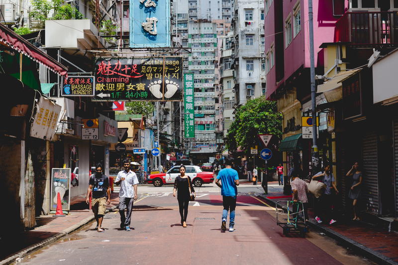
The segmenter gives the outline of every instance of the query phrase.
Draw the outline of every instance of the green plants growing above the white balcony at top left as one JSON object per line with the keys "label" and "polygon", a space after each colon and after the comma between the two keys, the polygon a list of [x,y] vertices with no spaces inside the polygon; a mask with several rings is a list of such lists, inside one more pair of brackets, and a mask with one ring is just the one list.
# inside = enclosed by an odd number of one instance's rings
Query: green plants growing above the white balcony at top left
{"label": "green plants growing above the white balcony at top left", "polygon": [[[51,10],[54,10],[54,16],[48,17]],[[69,3],[64,4],[63,0],[32,0],[32,9],[30,15],[33,19],[83,19],[83,14]]]}

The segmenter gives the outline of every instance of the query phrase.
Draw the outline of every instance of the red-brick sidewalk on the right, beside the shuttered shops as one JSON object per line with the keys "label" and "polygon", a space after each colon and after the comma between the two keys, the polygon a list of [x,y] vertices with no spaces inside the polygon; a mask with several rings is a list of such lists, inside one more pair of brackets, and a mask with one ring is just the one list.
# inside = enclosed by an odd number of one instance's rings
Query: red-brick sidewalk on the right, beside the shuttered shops
{"label": "red-brick sidewalk on the right, beside the shuttered shops", "polygon": [[[272,194],[258,194],[267,203],[275,206],[279,200],[289,200],[291,196],[283,192]],[[346,247],[359,251],[366,258],[378,264],[398,264],[398,234],[388,232],[371,224],[361,221],[339,221],[333,225],[318,224],[314,220],[313,212],[308,210],[310,217],[308,225],[334,238]]]}

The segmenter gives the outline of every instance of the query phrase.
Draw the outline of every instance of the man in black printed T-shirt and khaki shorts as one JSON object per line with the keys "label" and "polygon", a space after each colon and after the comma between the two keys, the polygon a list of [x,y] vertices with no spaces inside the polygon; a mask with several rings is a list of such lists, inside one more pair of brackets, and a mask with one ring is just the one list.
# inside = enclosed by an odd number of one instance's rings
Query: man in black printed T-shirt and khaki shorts
{"label": "man in black printed T-shirt and khaki shorts", "polygon": [[96,174],[90,176],[89,188],[87,190],[86,202],[90,201],[90,193],[93,191],[91,200],[92,210],[97,221],[96,229],[103,232],[101,228],[103,216],[105,215],[106,204],[110,203],[109,178],[102,174],[101,164],[97,165]]}

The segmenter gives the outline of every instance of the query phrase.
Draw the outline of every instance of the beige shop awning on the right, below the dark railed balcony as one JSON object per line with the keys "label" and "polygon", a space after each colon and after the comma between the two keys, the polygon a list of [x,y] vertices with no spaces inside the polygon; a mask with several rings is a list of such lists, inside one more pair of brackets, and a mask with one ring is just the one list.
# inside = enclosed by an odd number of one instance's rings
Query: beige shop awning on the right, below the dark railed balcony
{"label": "beige shop awning on the right, below the dark railed balcony", "polygon": [[355,75],[362,69],[349,70],[346,72],[340,72],[331,80],[319,85],[317,87],[318,93],[323,93],[328,102],[338,101],[343,98],[342,83],[347,78]]}

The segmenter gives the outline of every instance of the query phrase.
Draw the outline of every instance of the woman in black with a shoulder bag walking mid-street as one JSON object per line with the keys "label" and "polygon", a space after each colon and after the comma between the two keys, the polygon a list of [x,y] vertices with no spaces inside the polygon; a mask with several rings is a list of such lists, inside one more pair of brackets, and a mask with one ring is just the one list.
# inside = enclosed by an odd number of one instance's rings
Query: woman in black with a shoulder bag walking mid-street
{"label": "woman in black with a shoulder bag walking mid-street", "polygon": [[176,192],[178,189],[178,205],[180,206],[180,215],[181,215],[181,224],[183,227],[187,227],[187,215],[188,215],[188,204],[190,202],[190,189],[188,183],[191,184],[192,193],[195,195],[195,189],[192,185],[191,177],[185,175],[185,166],[181,165],[180,167],[180,176],[176,177],[174,181],[174,192],[173,196],[176,196]]}

